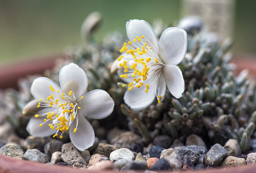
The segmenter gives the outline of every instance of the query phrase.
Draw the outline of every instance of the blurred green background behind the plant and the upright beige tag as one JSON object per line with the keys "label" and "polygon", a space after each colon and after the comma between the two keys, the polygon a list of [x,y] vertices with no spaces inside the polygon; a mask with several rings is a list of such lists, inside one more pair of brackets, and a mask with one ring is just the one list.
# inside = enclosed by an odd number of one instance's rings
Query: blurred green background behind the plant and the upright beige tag
{"label": "blurred green background behind the plant and the upright beige tag", "polygon": [[[62,53],[66,46],[82,43],[80,27],[93,11],[103,16],[94,34],[101,41],[109,31],[125,32],[130,19],[175,23],[181,18],[181,4],[180,0],[0,0],[0,63]],[[256,54],[255,7],[255,0],[236,1],[235,54]]]}

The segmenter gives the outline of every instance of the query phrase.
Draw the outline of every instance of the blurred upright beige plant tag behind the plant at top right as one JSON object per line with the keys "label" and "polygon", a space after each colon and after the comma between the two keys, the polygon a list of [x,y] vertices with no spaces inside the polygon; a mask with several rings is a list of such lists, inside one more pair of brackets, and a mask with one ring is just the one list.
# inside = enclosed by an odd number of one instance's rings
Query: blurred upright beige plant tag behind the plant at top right
{"label": "blurred upright beige plant tag behind the plant at top right", "polygon": [[207,29],[222,39],[233,36],[234,14],[234,0],[182,0],[182,17],[201,17]]}

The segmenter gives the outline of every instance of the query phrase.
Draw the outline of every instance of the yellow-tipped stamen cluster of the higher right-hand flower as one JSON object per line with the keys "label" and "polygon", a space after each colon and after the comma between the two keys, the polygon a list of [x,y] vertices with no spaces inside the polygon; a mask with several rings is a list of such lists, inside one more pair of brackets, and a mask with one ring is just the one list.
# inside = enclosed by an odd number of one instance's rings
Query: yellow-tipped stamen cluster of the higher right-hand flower
{"label": "yellow-tipped stamen cluster of the higher right-hand flower", "polygon": [[[127,76],[132,76],[133,81],[123,85],[123,87],[128,85],[130,87],[128,89],[129,91],[134,86],[140,88],[144,85],[147,88],[145,90],[147,93],[156,81],[158,81],[164,64],[157,55],[155,48],[147,47],[148,43],[151,44],[147,38],[144,38],[144,36],[141,36],[141,38],[137,36],[136,38],[137,40],[134,39],[133,43],[131,41],[128,42],[128,45],[124,43],[124,46],[119,50],[121,53],[126,51],[126,54],[131,54],[134,59],[130,60],[124,56],[118,58],[118,61],[121,61],[121,59],[124,60],[123,64],[120,63],[119,65],[124,67],[125,74],[120,75],[120,77],[126,79]],[[145,40],[145,42],[143,42],[142,39]],[[135,49],[130,45],[133,45]],[[129,62],[127,63],[127,61]],[[160,102],[160,100],[158,101]]]}

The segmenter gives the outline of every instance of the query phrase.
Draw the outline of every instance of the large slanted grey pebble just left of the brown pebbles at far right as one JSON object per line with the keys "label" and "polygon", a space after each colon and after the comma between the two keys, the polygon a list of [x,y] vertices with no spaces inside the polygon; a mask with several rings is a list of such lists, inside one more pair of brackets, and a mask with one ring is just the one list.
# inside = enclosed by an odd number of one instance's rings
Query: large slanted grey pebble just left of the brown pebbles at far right
{"label": "large slanted grey pebble just left of the brown pebbles at far right", "polygon": [[212,148],[204,155],[204,165],[216,167],[223,159],[228,156],[228,151],[220,144],[214,144]]}

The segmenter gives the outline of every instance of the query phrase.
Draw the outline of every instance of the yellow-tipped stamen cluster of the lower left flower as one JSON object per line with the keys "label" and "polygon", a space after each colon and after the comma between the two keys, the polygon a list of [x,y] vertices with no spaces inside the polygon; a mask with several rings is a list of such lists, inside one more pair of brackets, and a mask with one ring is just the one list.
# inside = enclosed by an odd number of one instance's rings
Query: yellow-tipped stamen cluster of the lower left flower
{"label": "yellow-tipped stamen cluster of the lower left flower", "polygon": [[[54,88],[50,85],[52,92],[55,92]],[[57,91],[59,93],[60,91]],[[52,107],[53,111],[43,114],[36,114],[35,117],[43,117],[46,116],[44,122],[39,126],[42,126],[44,123],[52,121],[52,123],[48,124],[52,130],[56,129],[57,132],[53,135],[58,136],[58,132],[61,131],[60,139],[63,137],[62,134],[69,129],[70,124],[74,121],[77,115],[77,110],[81,109],[78,106],[77,102],[82,100],[84,97],[81,97],[80,100],[76,101],[76,97],[73,91],[69,91],[68,93],[71,97],[67,96],[66,94],[62,93],[60,95],[61,99],[55,99],[53,94],[48,96],[46,101],[40,99],[37,105],[39,107]],[[44,102],[44,103],[41,103]],[[74,133],[77,130],[78,118],[76,118],[76,128],[74,128]]]}

